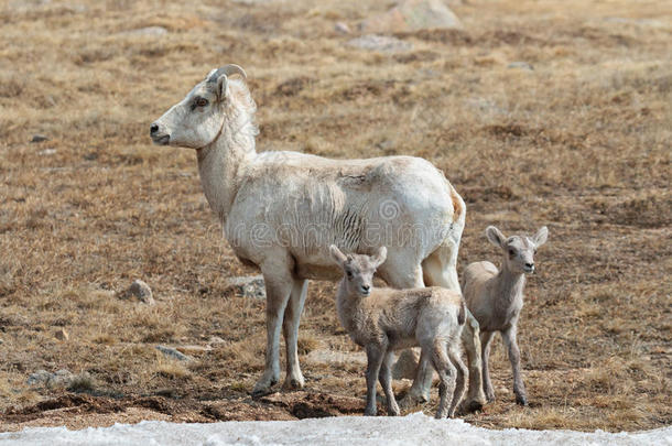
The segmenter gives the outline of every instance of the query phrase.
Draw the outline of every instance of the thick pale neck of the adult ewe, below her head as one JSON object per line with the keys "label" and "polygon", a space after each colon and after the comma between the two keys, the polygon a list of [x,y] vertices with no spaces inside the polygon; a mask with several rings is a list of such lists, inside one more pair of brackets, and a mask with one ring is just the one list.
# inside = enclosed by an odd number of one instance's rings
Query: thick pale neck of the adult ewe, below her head
{"label": "thick pale neck of the adult ewe, below her head", "polygon": [[243,124],[225,121],[219,137],[197,151],[203,192],[217,217],[225,222],[238,194],[245,167],[252,162],[254,135]]}

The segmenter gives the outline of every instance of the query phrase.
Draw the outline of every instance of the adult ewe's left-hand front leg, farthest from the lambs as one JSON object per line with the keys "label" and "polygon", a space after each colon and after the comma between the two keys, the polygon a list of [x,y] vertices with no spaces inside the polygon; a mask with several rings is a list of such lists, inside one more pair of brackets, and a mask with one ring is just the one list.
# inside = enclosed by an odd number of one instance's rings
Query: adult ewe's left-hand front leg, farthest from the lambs
{"label": "adult ewe's left-hand front leg, farthest from the lambs", "polygon": [[252,396],[261,396],[271,392],[271,388],[280,380],[280,330],[282,316],[290,293],[293,279],[289,270],[278,272],[279,268],[261,268],[265,282],[265,369],[252,390]]}

